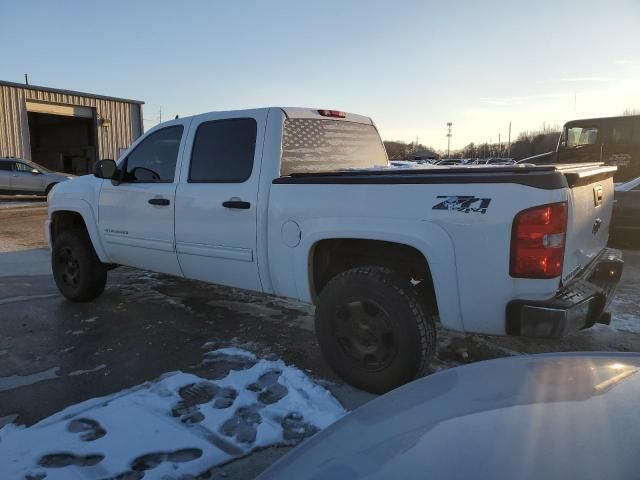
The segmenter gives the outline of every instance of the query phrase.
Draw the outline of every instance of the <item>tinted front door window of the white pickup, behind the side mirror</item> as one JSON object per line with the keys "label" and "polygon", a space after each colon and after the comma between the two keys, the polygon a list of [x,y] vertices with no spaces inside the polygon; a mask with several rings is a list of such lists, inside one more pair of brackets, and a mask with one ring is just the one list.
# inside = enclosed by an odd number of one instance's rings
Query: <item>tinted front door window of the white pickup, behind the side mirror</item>
{"label": "tinted front door window of the white pickup, behind the side mirror", "polygon": [[182,125],[158,130],[129,154],[124,182],[171,183],[175,177]]}

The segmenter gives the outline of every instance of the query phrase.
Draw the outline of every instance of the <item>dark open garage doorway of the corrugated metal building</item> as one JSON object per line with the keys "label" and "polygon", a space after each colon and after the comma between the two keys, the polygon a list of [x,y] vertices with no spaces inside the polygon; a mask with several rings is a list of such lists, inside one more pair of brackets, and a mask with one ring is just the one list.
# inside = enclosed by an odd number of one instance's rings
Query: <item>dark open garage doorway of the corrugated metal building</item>
{"label": "dark open garage doorway of the corrugated metal building", "polygon": [[31,160],[58,172],[84,175],[96,159],[93,118],[28,112]]}

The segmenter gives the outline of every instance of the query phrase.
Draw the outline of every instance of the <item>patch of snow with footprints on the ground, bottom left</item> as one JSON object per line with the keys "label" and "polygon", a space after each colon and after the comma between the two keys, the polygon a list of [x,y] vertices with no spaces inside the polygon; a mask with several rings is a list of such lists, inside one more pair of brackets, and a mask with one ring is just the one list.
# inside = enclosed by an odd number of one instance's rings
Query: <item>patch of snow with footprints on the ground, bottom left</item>
{"label": "patch of snow with footprints on the ground, bottom left", "polygon": [[256,448],[295,444],[346,413],[281,360],[258,360],[237,348],[206,358],[239,367],[219,380],[168,373],[28,428],[6,425],[0,478],[179,479]]}

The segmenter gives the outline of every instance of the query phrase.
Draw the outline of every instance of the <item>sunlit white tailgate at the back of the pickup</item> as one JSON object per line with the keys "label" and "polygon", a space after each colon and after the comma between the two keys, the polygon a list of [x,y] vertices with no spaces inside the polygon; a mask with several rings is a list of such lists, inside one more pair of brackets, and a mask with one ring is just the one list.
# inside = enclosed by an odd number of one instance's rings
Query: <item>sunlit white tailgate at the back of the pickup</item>
{"label": "sunlit white tailgate at the back of the pickup", "polygon": [[562,281],[567,283],[606,247],[616,167],[557,165],[569,185],[569,216]]}

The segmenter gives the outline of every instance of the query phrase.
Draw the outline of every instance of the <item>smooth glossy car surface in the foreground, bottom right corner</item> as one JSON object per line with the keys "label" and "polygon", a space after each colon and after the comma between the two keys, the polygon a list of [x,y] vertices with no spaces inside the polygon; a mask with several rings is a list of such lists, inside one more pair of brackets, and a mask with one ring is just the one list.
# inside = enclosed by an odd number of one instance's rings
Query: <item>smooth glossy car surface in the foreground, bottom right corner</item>
{"label": "smooth glossy car surface in the foreground, bottom right corner", "polygon": [[638,478],[640,355],[507,357],[421,378],[258,480]]}

